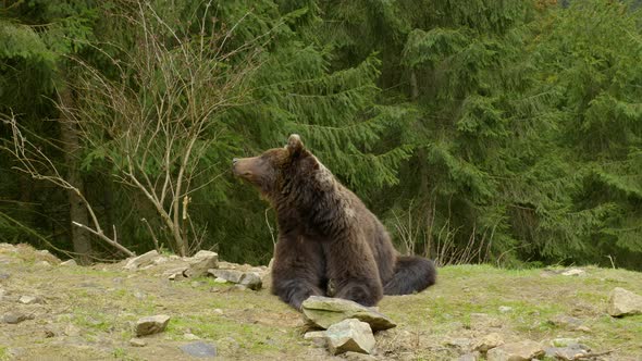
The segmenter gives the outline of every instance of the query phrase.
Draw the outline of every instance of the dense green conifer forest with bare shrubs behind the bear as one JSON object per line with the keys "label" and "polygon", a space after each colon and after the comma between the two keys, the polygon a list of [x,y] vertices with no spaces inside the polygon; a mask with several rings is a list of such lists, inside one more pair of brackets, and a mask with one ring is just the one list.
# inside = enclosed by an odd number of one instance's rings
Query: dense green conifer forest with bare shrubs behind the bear
{"label": "dense green conifer forest with bare shrubs behind the bear", "polygon": [[266,264],[298,133],[403,252],[642,270],[641,3],[2,0],[0,241]]}

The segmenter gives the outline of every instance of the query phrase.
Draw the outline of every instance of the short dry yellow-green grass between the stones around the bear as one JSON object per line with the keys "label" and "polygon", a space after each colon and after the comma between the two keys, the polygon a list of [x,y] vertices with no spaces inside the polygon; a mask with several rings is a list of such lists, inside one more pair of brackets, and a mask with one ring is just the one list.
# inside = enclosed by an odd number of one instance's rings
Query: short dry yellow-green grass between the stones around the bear
{"label": "short dry yellow-green grass between the stones around the bear", "polygon": [[[0,249],[2,272],[10,274],[0,281],[9,291],[0,301],[0,314],[20,310],[35,315],[0,327],[0,360],[10,354],[17,360],[184,360],[178,346],[188,343],[186,333],[221,345],[223,359],[333,359],[303,339],[300,315],[267,290],[232,290],[207,278],[171,283],[153,270],[127,273],[119,264],[38,265],[42,257],[29,248],[18,253]],[[376,358],[449,360],[461,353],[449,344],[495,332],[506,341],[578,338],[595,352],[612,351],[604,360],[639,360],[642,315],[612,319],[604,310],[616,286],[642,294],[642,277],[624,270],[583,270],[584,276],[568,277],[545,270],[442,267],[439,283],[429,290],[382,300],[381,312],[398,326],[378,333]],[[15,301],[34,294],[44,303]],[[499,306],[511,311],[502,313]],[[169,328],[146,338],[146,347],[129,346],[131,324],[158,313],[172,316]],[[589,331],[551,323],[557,315],[577,318]],[[226,337],[236,346],[223,347]]]}

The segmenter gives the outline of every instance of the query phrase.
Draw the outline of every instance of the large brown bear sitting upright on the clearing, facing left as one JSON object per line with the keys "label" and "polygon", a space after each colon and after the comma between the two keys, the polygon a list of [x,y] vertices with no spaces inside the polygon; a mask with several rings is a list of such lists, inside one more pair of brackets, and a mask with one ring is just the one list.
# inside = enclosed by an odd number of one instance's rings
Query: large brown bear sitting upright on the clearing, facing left
{"label": "large brown bear sitting upright on the clearing, facing left", "polygon": [[295,309],[313,295],[374,306],[384,294],[411,294],[435,283],[433,262],[399,256],[376,216],[298,135],[284,148],[234,159],[233,171],[276,211],[272,292]]}

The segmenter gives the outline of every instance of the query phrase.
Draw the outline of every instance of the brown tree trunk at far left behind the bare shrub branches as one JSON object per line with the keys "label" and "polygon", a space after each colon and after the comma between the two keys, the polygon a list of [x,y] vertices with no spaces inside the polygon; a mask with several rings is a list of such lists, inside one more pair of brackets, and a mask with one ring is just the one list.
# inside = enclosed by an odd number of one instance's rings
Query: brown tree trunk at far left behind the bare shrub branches
{"label": "brown tree trunk at far left behind the bare shrub branches", "polygon": [[[72,90],[69,87],[60,90],[60,102],[63,109],[60,112],[60,140],[64,151],[64,162],[67,170],[66,180],[74,187],[83,190],[84,182],[78,166],[79,142],[78,129],[76,123],[70,120],[64,109],[71,109],[74,104]],[[73,191],[67,191],[67,199],[70,204],[70,222],[77,222],[84,225],[89,224],[89,216],[87,208],[83,200]],[[70,223],[72,241],[74,244],[74,252],[77,253],[77,261],[81,264],[90,263],[91,239],[90,235],[79,227]]]}

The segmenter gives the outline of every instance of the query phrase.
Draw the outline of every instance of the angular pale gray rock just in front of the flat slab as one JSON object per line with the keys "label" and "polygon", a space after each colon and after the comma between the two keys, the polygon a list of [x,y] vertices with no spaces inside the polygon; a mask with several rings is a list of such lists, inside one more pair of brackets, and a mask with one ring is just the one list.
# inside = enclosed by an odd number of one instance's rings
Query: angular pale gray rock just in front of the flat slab
{"label": "angular pale gray rock just in front of the flat slab", "polygon": [[347,351],[371,353],[375,345],[370,325],[357,319],[331,325],[325,331],[325,339],[333,354]]}

